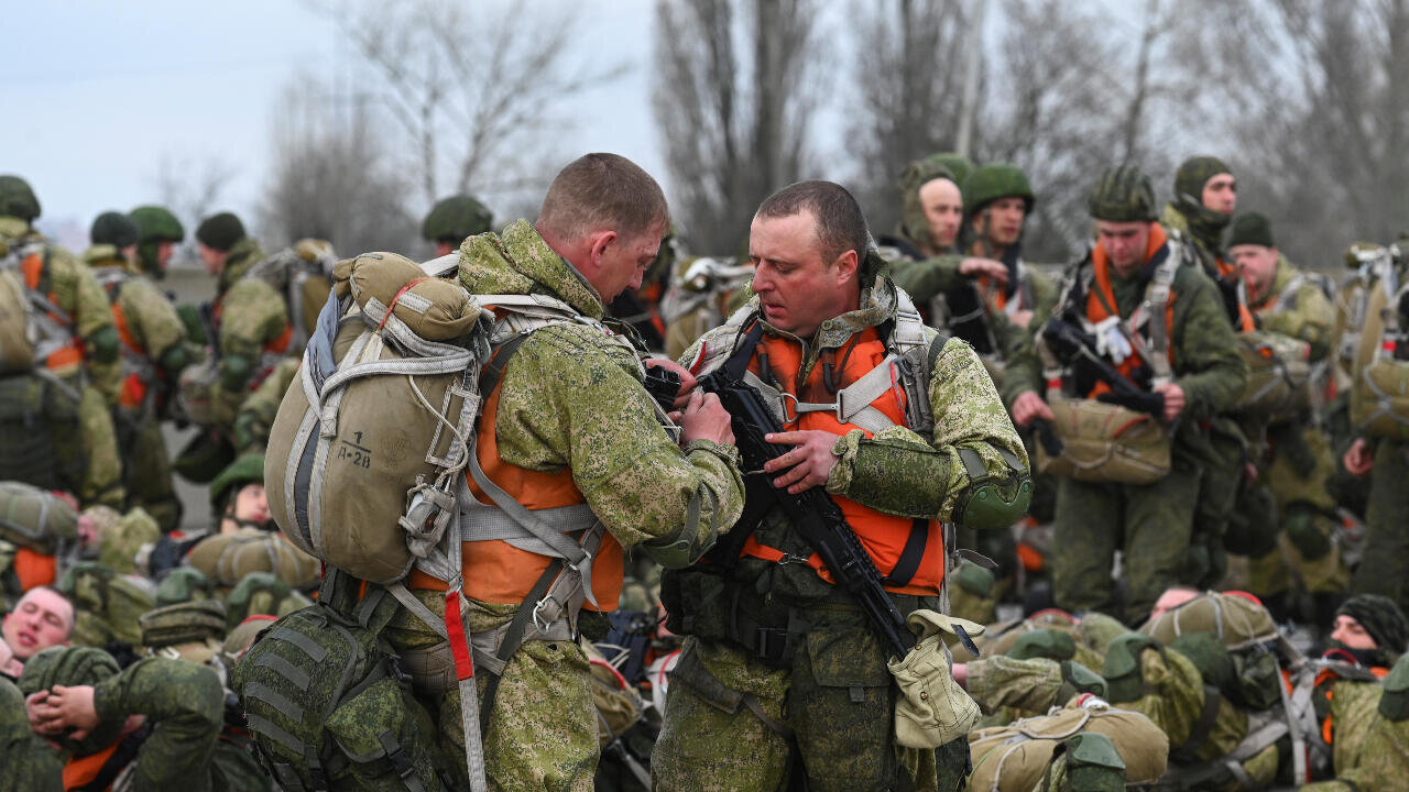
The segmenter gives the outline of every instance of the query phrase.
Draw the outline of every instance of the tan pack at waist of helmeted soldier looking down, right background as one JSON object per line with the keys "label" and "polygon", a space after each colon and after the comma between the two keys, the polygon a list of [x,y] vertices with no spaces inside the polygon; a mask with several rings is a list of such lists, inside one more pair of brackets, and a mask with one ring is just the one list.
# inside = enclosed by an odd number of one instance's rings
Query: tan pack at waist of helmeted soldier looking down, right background
{"label": "tan pack at waist of helmeted soldier looking down, right background", "polygon": [[1150,416],[1093,399],[1051,402],[1062,452],[1038,444],[1037,471],[1084,482],[1146,485],[1169,474],[1169,430]]}

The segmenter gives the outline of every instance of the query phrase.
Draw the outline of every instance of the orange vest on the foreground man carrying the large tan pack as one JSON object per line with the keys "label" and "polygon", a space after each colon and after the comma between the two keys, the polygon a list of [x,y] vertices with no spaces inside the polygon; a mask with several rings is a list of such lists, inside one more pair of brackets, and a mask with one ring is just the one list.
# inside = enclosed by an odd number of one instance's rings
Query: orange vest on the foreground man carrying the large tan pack
{"label": "orange vest on the foreground man carrying the large tan pack", "polygon": [[[499,458],[499,440],[495,435],[495,416],[499,413],[499,396],[503,380],[495,386],[485,400],[476,428],[476,455],[489,481],[499,485],[524,509],[557,509],[576,506],[586,499],[572,481],[572,471],[540,472],[510,465]],[[483,490],[465,474],[469,489],[480,503],[493,503]],[[464,558],[465,595],[479,602],[517,603],[533,590],[552,559],[547,555],[520,550],[507,541],[466,541],[461,545]],[[623,576],[621,545],[610,531],[602,537],[602,547],[592,559],[592,593],[603,613],[616,610],[621,598]],[[445,582],[413,569],[407,576],[407,588],[445,590]],[[597,610],[592,602],[583,603],[589,610]]]}

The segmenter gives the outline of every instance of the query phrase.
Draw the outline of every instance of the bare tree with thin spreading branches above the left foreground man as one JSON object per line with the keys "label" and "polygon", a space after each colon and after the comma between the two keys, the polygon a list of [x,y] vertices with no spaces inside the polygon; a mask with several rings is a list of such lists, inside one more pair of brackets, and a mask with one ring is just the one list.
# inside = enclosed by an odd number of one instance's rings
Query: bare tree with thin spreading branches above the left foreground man
{"label": "bare tree with thin spreading branches above the left foreground man", "polygon": [[620,65],[569,63],[581,24],[568,6],[309,1],[376,73],[411,144],[407,166],[427,207],[451,192],[511,193],[545,180],[545,138],[569,125],[555,116],[564,97],[624,73]]}

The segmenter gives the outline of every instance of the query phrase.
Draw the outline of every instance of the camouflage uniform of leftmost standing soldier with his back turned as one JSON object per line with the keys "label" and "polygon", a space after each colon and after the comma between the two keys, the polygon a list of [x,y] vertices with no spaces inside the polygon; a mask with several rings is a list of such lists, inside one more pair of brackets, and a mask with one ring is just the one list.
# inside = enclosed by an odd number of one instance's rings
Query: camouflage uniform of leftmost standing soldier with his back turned
{"label": "camouflage uniform of leftmost standing soldier with his back turned", "polygon": [[[37,211],[35,211],[37,214]],[[93,273],[73,254],[32,231],[28,218],[0,214],[0,248],[41,242],[46,248],[51,295],[59,310],[73,317],[73,334],[86,347],[82,365],[52,373],[79,393],[79,437],[55,437],[59,452],[82,452],[85,475],[70,488],[85,505],[121,507],[125,500],[123,464],[104,393],[117,393],[120,371],[118,337],[107,296]]]}

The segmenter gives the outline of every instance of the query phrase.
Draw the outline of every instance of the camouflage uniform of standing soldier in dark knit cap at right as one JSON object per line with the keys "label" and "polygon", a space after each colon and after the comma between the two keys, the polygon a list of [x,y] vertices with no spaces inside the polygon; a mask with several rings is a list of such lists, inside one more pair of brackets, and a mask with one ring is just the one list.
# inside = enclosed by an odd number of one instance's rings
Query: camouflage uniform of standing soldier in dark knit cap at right
{"label": "camouflage uniform of standing soldier in dark knit cap at right", "polygon": [[[1262,330],[1279,333],[1310,344],[1310,362],[1322,364],[1330,352],[1334,307],[1320,287],[1302,278],[1301,287],[1285,295],[1299,276],[1285,256],[1265,295],[1250,303]],[[1267,599],[1286,590],[1288,562],[1302,585],[1313,595],[1334,595],[1350,583],[1350,572],[1334,543],[1336,502],[1329,483],[1336,472],[1330,441],[1320,427],[1301,419],[1277,421],[1265,427],[1267,451],[1258,462],[1258,482],[1250,489],[1265,488],[1277,505],[1281,521],[1281,548],[1248,559],[1250,590]],[[1247,524],[1267,521],[1261,509],[1247,509],[1239,500],[1240,519]],[[1285,558],[1285,559],[1284,559]],[[1323,596],[1326,599],[1326,596]],[[1316,623],[1329,623],[1329,607],[1317,613]]]}

